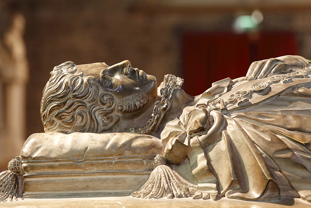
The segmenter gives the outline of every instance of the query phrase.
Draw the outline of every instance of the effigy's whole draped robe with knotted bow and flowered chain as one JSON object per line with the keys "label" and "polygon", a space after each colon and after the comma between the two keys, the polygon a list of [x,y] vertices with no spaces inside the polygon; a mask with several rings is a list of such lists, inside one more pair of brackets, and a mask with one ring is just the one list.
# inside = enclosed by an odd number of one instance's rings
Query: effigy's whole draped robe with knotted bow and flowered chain
{"label": "effigy's whole draped robe with knotted bow and flowered chain", "polygon": [[311,78],[288,77],[214,83],[165,126],[165,158],[190,166],[212,198],[310,201]]}

